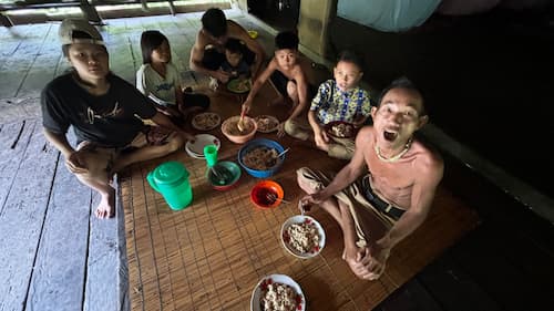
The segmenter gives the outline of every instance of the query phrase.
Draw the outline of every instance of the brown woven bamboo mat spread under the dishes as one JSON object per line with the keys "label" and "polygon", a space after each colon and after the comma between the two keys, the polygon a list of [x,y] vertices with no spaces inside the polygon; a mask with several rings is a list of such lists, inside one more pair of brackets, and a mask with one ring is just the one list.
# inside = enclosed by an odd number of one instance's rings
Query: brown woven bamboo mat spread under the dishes
{"label": "brown woven bamboo mat spread under the dishes", "polygon": [[[213,110],[224,118],[237,106],[233,97],[213,100]],[[274,115],[279,117],[279,112]],[[222,139],[220,158],[236,162],[240,146],[229,143],[219,129],[212,134]],[[260,136],[276,139],[271,134]],[[284,187],[288,200],[304,195],[296,184],[298,167],[337,170],[345,165],[301,142],[279,142],[291,149],[271,179]],[[194,199],[184,210],[171,210],[145,179],[165,160],[179,160],[191,173]],[[249,191],[257,179],[243,170],[236,188],[215,191],[205,172],[204,160],[177,152],[134,165],[122,178],[132,310],[249,310],[255,284],[270,273],[295,279],[306,296],[307,310],[370,310],[478,221],[472,209],[440,188],[428,220],[393,249],[383,277],[361,281],[340,259],[342,235],[327,214],[312,212],[327,235],[321,255],[296,259],[279,239],[283,222],[297,214],[296,205],[256,209]]]}

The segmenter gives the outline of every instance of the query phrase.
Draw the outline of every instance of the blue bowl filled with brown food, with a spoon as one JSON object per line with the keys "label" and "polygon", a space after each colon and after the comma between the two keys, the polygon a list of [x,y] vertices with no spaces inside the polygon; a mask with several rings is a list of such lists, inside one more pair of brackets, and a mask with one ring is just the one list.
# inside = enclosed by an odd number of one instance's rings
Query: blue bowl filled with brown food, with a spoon
{"label": "blue bowl filled with brown food, with a spoon", "polygon": [[278,155],[284,151],[275,141],[253,139],[238,151],[238,164],[253,177],[269,178],[281,167],[286,154]]}

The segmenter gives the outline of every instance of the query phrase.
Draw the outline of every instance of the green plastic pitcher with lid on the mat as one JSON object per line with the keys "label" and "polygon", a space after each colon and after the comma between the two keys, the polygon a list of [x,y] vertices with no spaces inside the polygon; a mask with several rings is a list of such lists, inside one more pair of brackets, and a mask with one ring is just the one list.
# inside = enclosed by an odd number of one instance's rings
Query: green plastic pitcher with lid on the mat
{"label": "green plastic pitcher with lid on the mat", "polygon": [[193,200],[188,170],[179,162],[166,162],[146,175],[150,186],[160,193],[171,209],[181,210]]}

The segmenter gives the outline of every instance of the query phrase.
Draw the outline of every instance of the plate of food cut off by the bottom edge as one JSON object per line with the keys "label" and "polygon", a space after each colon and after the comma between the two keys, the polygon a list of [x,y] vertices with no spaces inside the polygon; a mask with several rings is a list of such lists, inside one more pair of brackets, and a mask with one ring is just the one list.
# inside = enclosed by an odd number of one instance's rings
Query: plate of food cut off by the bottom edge
{"label": "plate of food cut off by the bottom edge", "polygon": [[300,286],[289,276],[269,274],[252,292],[250,311],[306,311],[306,298]]}

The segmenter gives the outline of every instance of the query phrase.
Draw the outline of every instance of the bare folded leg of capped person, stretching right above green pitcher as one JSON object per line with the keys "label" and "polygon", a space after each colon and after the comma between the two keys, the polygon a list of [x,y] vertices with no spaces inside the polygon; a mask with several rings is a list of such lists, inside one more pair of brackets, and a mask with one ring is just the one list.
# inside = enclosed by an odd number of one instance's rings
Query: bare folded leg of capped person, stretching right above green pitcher
{"label": "bare folded leg of capped person, stretching right above green pitcher", "polygon": [[167,138],[167,143],[160,146],[144,146],[133,151],[129,154],[121,155],[113,164],[112,172],[116,173],[133,163],[158,158],[176,152],[184,144],[184,139],[177,134],[173,133]]}

